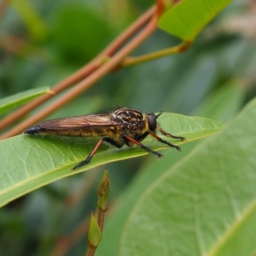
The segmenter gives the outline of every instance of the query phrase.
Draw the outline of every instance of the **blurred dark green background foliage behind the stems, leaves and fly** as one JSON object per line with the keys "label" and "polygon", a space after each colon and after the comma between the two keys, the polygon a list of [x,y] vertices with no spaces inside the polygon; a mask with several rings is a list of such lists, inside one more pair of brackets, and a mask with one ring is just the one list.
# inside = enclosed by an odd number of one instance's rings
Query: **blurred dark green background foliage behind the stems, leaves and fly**
{"label": "blurred dark green background foliage behind the stems, leaves and fly", "polygon": [[[10,1],[0,24],[0,97],[61,81],[152,4],[145,0]],[[202,115],[226,123],[256,93],[255,17],[255,1],[236,0],[200,33],[189,51],[108,74],[49,118],[127,106],[143,112]],[[178,43],[159,30],[134,55]],[[221,108],[223,102],[230,102],[232,108],[225,104]],[[100,166],[6,205],[0,210],[0,255],[58,255],[52,250],[56,244],[68,247],[63,237],[70,234],[80,238],[74,238],[76,243],[65,255],[84,255],[86,216],[96,208],[104,170],[109,170],[112,203],[140,169],[155,161],[145,156]],[[81,230],[74,232],[77,227]]]}

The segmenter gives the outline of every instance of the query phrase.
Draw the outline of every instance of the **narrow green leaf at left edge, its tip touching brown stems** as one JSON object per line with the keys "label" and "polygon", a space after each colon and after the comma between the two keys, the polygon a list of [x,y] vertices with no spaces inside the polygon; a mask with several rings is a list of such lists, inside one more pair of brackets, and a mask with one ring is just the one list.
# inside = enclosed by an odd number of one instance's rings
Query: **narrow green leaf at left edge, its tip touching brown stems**
{"label": "narrow green leaf at left edge, its tip touching brown stems", "polygon": [[49,90],[49,87],[41,87],[5,97],[0,100],[0,114],[13,108],[17,108],[18,106],[25,104],[29,100],[34,99],[35,97],[38,97],[45,93],[53,92]]}

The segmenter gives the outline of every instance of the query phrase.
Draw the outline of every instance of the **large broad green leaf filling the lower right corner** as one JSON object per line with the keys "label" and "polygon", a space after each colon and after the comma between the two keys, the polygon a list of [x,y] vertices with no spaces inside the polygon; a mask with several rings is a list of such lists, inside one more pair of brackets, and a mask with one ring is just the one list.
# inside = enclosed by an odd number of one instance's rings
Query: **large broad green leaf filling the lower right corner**
{"label": "large broad green leaf filling the lower right corner", "polygon": [[253,100],[148,187],[125,223],[120,255],[255,253],[255,117]]}

